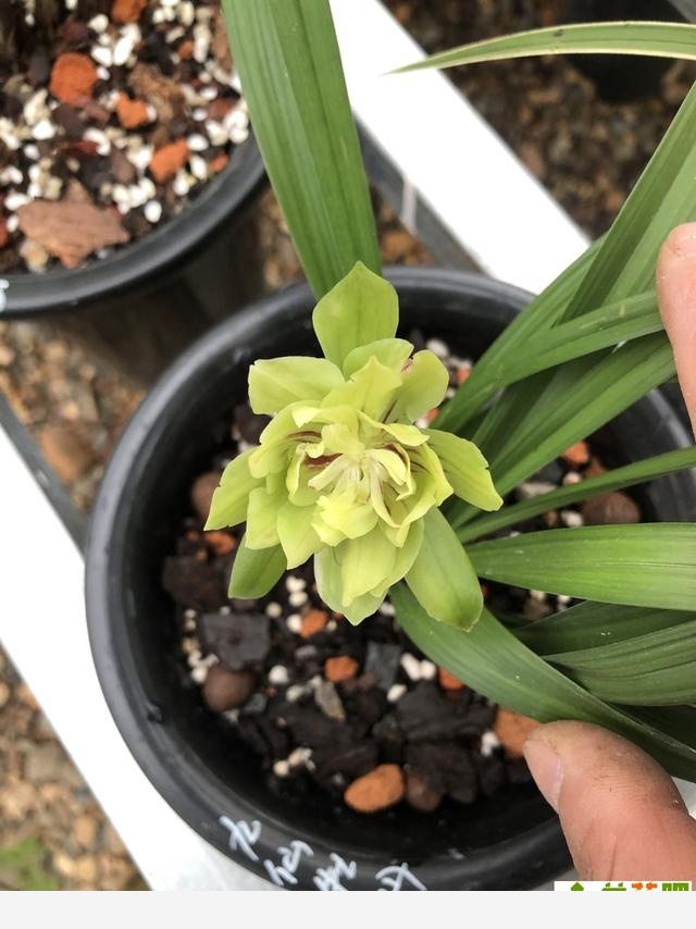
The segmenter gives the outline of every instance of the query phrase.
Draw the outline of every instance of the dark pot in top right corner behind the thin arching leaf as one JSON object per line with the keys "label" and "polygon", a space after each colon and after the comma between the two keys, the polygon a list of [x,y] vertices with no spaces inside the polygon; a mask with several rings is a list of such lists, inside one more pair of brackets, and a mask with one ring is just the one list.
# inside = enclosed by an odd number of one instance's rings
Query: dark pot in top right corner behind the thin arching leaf
{"label": "dark pot in top right corner behind the thin arching leaf", "polygon": [[[621,20],[683,22],[691,0],[562,0],[562,22],[595,23]],[[692,7],[692,14],[696,7]],[[639,100],[657,94],[660,78],[673,62],[666,58],[621,54],[574,54],[571,62],[594,80],[610,102]]]}

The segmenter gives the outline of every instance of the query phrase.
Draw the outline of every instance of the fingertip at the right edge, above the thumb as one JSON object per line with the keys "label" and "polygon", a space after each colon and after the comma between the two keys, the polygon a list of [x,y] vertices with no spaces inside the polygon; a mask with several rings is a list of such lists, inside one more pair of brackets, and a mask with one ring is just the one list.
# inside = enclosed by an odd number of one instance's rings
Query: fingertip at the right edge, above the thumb
{"label": "fingertip at the right edge, above the thumb", "polygon": [[657,298],[696,432],[696,223],[669,234],[657,262]]}

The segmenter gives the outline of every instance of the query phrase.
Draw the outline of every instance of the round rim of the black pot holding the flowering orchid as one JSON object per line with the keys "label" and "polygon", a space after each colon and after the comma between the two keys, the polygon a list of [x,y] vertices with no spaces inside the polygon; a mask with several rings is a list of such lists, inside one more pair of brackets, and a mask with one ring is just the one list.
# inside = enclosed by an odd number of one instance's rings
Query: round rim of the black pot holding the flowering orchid
{"label": "round rim of the black pot holding the flowering orchid", "polygon": [[[425,292],[434,299],[437,299],[438,292],[451,297],[453,290],[459,290],[462,294],[465,292],[468,296],[505,300],[517,309],[529,301],[529,295],[515,287],[498,284],[468,272],[397,269],[390,271],[387,276],[397,288],[406,287],[411,294],[419,290]],[[124,686],[124,668],[133,664],[132,657],[124,656],[123,651],[119,649],[113,623],[104,621],[114,582],[114,578],[109,574],[110,547],[114,529],[121,519],[123,500],[126,496],[134,496],[133,491],[139,482],[140,471],[157,442],[151,435],[152,424],[166,414],[167,408],[177,396],[182,396],[191,386],[195,387],[195,383],[191,384],[191,382],[196,380],[196,372],[202,376],[201,369],[214,364],[214,359],[220,355],[233,351],[236,364],[251,361],[249,354],[244,349],[246,340],[252,338],[254,333],[262,331],[271,321],[277,320],[278,315],[291,308],[297,308],[302,302],[309,306],[313,302],[310,288],[306,284],[294,285],[251,305],[204,335],[165,372],[136,412],[119,443],[104,475],[89,531],[86,559],[89,639],[97,672],[112,715],[138,764],[165,801],[199,834],[204,835],[211,844],[227,854],[229,854],[229,847],[219,827],[217,816],[212,813],[221,808],[216,793],[219,779],[192,750],[186,751],[186,746],[181,744],[184,742],[182,738],[173,736],[167,727],[157,724],[159,708],[144,706],[147,695],[139,685],[139,680],[130,680],[129,688]],[[235,345],[236,348],[233,347]],[[660,416],[664,417],[666,428],[670,430],[674,442],[686,442],[686,433],[668,404],[657,394],[651,396],[651,400],[657,404]],[[132,504],[126,505],[132,506]],[[133,671],[132,668],[126,670]],[[136,693],[138,688],[140,692]],[[144,731],[145,719],[153,723],[147,731]],[[186,770],[189,776],[188,781],[181,773],[182,770]],[[190,777],[196,778],[195,798],[191,795]],[[256,845],[259,853],[258,862],[245,859],[238,851],[232,857],[268,878],[262,859],[278,846],[287,844],[288,828],[279,817],[261,808],[256,801],[239,793],[235,793],[234,800],[236,808],[228,815],[235,820],[245,819],[248,822],[254,819],[261,820],[263,835]],[[211,810],[210,816],[203,821],[201,821],[202,806]],[[322,847],[319,849],[318,854],[324,854],[327,851]],[[345,850],[338,851],[345,853]],[[374,874],[376,863],[373,858],[364,852],[356,852],[355,857],[361,863],[363,871],[372,868]],[[568,865],[568,852],[560,826],[550,812],[548,820],[539,822],[512,839],[477,850],[465,860],[434,856],[422,865],[414,863],[418,876],[432,889],[451,889],[455,881],[467,888],[499,887],[490,881],[492,867],[498,879],[501,875],[508,878],[507,889],[530,887],[547,879],[554,867],[556,874],[559,874]],[[373,883],[361,884],[356,881],[352,885],[356,889],[374,889]],[[500,889],[504,888],[500,887]]]}

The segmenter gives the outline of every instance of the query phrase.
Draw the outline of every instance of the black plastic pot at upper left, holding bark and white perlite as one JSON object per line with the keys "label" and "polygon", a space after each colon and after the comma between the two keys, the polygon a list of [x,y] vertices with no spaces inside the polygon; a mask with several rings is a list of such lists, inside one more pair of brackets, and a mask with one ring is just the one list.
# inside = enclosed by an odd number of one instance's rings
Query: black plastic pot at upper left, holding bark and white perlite
{"label": "black plastic pot at upper left, holding bark and white perlite", "polygon": [[261,265],[251,260],[256,230],[245,219],[264,184],[250,136],[188,208],[144,238],[74,271],[7,276],[2,318],[51,322],[151,383],[195,338],[261,293]]}

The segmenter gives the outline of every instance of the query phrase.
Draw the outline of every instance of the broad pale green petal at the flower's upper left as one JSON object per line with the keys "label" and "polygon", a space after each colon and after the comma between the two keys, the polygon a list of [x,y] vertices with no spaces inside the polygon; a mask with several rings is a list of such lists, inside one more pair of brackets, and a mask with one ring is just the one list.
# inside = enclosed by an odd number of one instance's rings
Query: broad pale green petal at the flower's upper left
{"label": "broad pale green petal at the flower's upper left", "polygon": [[272,358],[249,369],[249,402],[254,413],[273,416],[300,400],[321,402],[343,383],[338,368],[325,358]]}

